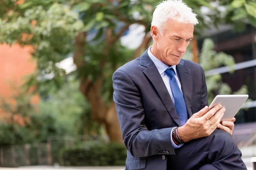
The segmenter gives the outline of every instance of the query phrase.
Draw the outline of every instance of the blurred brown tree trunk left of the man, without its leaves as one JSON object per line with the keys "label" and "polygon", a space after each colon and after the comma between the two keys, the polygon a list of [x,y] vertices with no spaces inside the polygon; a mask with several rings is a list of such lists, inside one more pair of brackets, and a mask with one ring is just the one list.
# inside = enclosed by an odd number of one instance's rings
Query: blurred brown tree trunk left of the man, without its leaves
{"label": "blurred brown tree trunk left of the man, without its leaves", "polygon": [[[77,68],[84,66],[86,53],[86,33],[79,33],[75,38],[74,63]],[[115,103],[108,106],[102,99],[102,77],[92,81],[88,77],[81,77],[80,91],[90,102],[92,117],[106,128],[106,132],[111,142],[122,143],[122,133],[116,114]]]}

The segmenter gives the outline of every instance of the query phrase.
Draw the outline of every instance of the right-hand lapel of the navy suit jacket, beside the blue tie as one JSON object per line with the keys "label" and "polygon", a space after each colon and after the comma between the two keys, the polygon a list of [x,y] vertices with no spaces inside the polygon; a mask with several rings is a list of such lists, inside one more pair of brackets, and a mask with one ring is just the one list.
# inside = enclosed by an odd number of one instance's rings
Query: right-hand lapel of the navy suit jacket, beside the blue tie
{"label": "right-hand lapel of the navy suit jacket, beside the blue tie", "polygon": [[188,112],[188,117],[192,116],[191,112],[191,102],[192,102],[192,77],[190,69],[185,67],[184,60],[180,60],[180,64],[177,65],[177,71],[180,77],[181,89],[183,92],[183,97],[186,103],[186,109]]}

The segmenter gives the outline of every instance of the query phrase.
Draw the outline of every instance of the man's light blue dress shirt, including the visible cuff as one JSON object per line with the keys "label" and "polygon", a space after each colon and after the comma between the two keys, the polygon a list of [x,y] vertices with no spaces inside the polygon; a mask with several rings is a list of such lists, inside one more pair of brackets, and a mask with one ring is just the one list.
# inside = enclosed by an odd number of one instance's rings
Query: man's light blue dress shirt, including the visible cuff
{"label": "man's light blue dress shirt, including the visible cuff", "polygon": [[[176,65],[172,65],[171,67],[169,67],[168,65],[164,64],[163,62],[161,62],[159,59],[157,59],[156,57],[154,57],[154,55],[151,53],[150,51],[151,49],[151,46],[148,48],[148,56],[151,58],[151,60],[154,62],[154,65],[157,67],[157,70],[160,74],[160,76],[162,77],[163,79],[163,82],[164,84],[166,85],[166,88],[172,98],[172,102],[174,102],[174,99],[173,99],[173,96],[172,96],[172,89],[171,89],[171,86],[170,86],[170,77],[164,72],[166,71],[167,68],[173,68],[174,71],[175,71],[175,79],[176,79],[176,82],[180,88],[180,91],[182,93],[182,90],[181,90],[181,84],[180,84],[180,80],[179,78],[177,77],[177,71],[176,71]],[[183,94],[183,93],[182,93]],[[173,130],[173,129],[172,129]],[[171,132],[171,140],[172,140],[172,132]],[[172,140],[172,146],[174,148],[178,148],[178,147],[181,147],[183,144],[178,144],[176,145],[173,140]]]}

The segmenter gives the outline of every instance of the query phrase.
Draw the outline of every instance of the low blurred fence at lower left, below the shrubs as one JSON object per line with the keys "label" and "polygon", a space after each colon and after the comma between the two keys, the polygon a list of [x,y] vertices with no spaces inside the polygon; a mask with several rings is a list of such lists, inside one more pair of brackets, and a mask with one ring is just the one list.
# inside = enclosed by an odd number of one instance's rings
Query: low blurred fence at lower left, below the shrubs
{"label": "low blurred fence at lower left, below the shrubs", "polygon": [[106,141],[99,136],[51,136],[47,143],[13,145],[0,148],[0,167],[53,165],[60,163],[60,151],[85,141]]}

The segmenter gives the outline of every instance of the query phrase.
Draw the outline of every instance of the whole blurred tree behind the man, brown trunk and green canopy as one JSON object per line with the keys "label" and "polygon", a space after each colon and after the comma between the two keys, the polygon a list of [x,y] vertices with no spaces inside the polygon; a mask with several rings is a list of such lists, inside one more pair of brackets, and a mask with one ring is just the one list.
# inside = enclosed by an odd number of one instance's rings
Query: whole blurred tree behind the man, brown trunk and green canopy
{"label": "whole blurred tree behind the man, brown trunk and green canopy", "polygon": [[[221,22],[250,22],[256,16],[253,0],[184,0],[198,14],[200,24],[195,29],[199,35],[209,25]],[[240,2],[243,1],[244,3]],[[28,80],[29,85],[39,86],[63,82],[64,70],[55,63],[73,54],[80,80],[80,91],[90,102],[92,117],[105,126],[111,141],[122,142],[115,104],[112,99],[113,72],[125,62],[139,57],[151,42],[148,34],[151,16],[158,0],[4,0],[0,4],[0,42],[19,43],[33,47],[32,56],[38,61],[38,72]],[[231,5],[230,5],[231,3]],[[218,5],[230,9],[241,3],[245,17],[235,17],[238,10],[223,13]],[[217,6],[216,6],[217,4]],[[235,5],[234,5],[235,4]],[[203,14],[201,7],[209,9]],[[231,7],[230,7],[231,6]],[[250,11],[250,12],[249,12]],[[256,11],[256,10],[254,10]],[[244,11],[242,11],[244,12]],[[230,20],[234,17],[236,22]],[[135,50],[128,50],[120,37],[132,24],[145,27],[144,38]],[[74,41],[73,41],[74,40]],[[195,45],[196,48],[196,45]],[[36,81],[36,77],[52,74],[51,81]]]}

